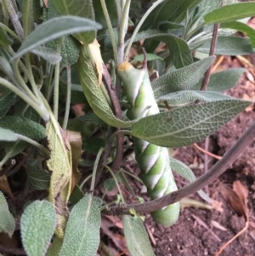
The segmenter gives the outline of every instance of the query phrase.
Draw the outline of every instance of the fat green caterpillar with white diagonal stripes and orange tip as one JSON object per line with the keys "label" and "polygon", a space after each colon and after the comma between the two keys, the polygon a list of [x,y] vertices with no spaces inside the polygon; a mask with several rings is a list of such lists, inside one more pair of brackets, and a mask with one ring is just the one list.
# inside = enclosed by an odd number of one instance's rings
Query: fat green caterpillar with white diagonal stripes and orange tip
{"label": "fat green caterpillar with white diagonal stripes and orange tip", "polygon": [[[150,85],[150,77],[146,67],[135,69],[128,62],[123,62],[117,68],[117,74],[122,79],[130,108],[127,117],[130,120],[147,117],[159,113],[156,100]],[[135,159],[139,164],[139,177],[144,181],[151,199],[156,199],[176,191],[177,186],[169,164],[167,148],[150,144],[143,139],[133,137]],[[151,213],[156,223],[173,225],[178,219],[179,203],[175,202],[166,208]]]}

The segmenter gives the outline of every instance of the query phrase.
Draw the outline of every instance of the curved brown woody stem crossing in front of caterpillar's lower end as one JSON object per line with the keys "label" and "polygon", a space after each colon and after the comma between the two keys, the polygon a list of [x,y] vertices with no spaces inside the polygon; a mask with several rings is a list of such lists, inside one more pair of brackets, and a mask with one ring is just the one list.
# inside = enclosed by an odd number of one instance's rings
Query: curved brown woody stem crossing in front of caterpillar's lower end
{"label": "curved brown woody stem crossing in front of caterpillar's lower end", "polygon": [[[140,214],[149,213],[156,211],[158,209],[164,208],[173,202],[178,202],[186,196],[190,196],[195,192],[201,190],[206,185],[210,184],[214,179],[218,178],[221,174],[224,173],[226,168],[229,168],[237,159],[247,145],[250,145],[255,137],[255,121],[252,122],[249,128],[246,129],[246,132],[241,135],[241,137],[235,142],[229,151],[227,151],[223,158],[219,160],[208,172],[203,174],[200,178],[196,179],[190,185],[184,186],[184,188],[173,191],[167,196],[162,196],[156,200],[150,202],[144,202],[143,204],[129,204],[124,207],[113,207],[109,210],[105,210],[105,214],[129,214],[129,209],[134,208],[134,210]],[[119,211],[119,212],[118,212]]]}

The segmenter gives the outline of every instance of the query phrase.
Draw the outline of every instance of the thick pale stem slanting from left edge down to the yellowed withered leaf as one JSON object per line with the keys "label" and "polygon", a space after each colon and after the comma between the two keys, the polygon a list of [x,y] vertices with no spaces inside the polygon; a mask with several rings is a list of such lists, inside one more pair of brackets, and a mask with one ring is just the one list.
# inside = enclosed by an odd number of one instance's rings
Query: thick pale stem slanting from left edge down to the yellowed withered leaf
{"label": "thick pale stem slanting from left edge down to the yellowed withered leaf", "polygon": [[35,111],[37,111],[39,116],[42,117],[42,119],[45,122],[48,122],[48,112],[46,110],[44,111],[40,107],[40,105],[37,104],[37,102],[34,102],[33,100],[31,100],[31,98],[29,96],[24,94],[19,88],[15,87],[14,84],[12,84],[11,82],[8,82],[7,80],[3,79],[2,77],[0,77],[0,84],[2,84],[5,88],[8,88],[10,91],[14,92],[14,94],[17,94],[22,100],[26,101],[26,103],[28,105],[31,105],[31,107]]}

